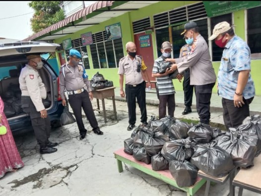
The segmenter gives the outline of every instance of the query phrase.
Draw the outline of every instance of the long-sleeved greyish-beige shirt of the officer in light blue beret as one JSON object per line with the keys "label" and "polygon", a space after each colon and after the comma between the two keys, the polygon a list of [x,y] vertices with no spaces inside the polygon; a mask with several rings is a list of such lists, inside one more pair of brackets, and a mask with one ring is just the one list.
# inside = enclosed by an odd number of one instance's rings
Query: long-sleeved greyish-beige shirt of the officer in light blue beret
{"label": "long-sleeved greyish-beige shirt of the officer in light blue beret", "polygon": [[[63,73],[63,68],[65,72],[65,77]],[[66,91],[76,91],[79,89],[87,87],[87,91],[91,92],[91,85],[88,78],[83,79],[83,66],[77,65],[75,67],[70,66],[68,63],[61,66],[59,83],[60,83],[60,94],[61,98],[65,99],[65,90]]]}

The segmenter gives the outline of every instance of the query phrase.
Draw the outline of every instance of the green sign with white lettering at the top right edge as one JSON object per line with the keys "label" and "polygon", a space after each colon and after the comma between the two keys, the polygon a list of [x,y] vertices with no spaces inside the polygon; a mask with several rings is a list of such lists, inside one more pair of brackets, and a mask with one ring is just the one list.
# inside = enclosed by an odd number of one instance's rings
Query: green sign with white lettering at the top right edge
{"label": "green sign with white lettering at the top right edge", "polygon": [[261,5],[261,1],[203,1],[208,17],[223,15]]}

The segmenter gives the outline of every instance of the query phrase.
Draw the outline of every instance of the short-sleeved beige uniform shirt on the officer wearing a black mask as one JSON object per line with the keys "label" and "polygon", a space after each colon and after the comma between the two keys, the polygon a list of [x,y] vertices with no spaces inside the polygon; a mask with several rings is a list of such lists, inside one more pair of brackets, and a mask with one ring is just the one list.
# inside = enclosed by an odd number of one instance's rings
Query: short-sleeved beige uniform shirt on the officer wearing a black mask
{"label": "short-sleeved beige uniform shirt on the officer wearing a black mask", "polygon": [[[141,65],[140,72],[137,72],[138,65]],[[136,55],[135,58],[131,60],[131,58],[127,55],[120,59],[118,74],[125,74],[125,84],[137,85],[144,81],[141,71],[146,69],[147,67],[141,56]]]}

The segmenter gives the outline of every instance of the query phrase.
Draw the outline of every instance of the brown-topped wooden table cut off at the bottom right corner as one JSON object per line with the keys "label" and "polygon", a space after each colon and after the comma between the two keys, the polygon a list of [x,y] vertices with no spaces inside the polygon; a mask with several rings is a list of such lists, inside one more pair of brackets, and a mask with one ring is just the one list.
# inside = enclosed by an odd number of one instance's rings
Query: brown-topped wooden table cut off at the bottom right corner
{"label": "brown-topped wooden table cut off at the bottom right corner", "polygon": [[261,155],[254,158],[254,166],[240,169],[233,185],[239,187],[238,196],[242,196],[243,189],[261,194]]}

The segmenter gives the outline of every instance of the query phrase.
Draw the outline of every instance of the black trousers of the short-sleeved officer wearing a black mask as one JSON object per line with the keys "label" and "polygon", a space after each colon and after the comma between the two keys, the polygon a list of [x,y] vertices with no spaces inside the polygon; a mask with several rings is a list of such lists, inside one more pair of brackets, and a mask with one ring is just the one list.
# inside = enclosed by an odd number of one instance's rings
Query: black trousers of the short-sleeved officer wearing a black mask
{"label": "black trousers of the short-sleeved officer wearing a black mask", "polygon": [[147,122],[147,109],[146,109],[146,83],[142,83],[133,86],[125,85],[126,100],[129,111],[129,124],[134,125],[136,123],[136,98],[141,113],[140,122]]}

